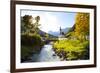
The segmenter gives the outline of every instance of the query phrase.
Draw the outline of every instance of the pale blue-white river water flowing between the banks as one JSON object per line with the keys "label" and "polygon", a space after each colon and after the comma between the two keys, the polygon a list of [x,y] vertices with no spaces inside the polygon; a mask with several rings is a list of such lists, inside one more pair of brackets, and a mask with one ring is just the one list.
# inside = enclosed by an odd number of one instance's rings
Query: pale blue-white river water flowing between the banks
{"label": "pale blue-white river water flowing between the banks", "polygon": [[52,44],[46,44],[43,46],[39,54],[33,54],[33,62],[49,62],[49,61],[60,61],[53,50]]}

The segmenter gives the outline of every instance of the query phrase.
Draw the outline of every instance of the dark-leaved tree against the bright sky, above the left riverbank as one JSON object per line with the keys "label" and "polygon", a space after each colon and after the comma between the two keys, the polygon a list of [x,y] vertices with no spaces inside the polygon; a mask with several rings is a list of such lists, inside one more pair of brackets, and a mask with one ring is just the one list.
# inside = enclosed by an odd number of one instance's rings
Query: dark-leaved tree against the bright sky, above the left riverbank
{"label": "dark-leaved tree against the bright sky, above the left riverbank", "polygon": [[[33,20],[35,19],[35,22]],[[25,15],[21,17],[21,29],[22,31],[26,32],[29,34],[30,32],[37,33],[38,32],[38,27],[40,26],[39,24],[40,21],[40,16],[36,16],[33,18],[31,15]]]}

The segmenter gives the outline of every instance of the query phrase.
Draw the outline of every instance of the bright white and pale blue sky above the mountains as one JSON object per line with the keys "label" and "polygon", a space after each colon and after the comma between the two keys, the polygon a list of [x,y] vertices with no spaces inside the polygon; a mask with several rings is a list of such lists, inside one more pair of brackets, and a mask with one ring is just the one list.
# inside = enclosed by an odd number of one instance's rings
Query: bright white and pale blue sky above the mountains
{"label": "bright white and pale blue sky above the mountains", "polygon": [[[45,32],[57,32],[60,27],[62,29],[72,27],[75,23],[74,12],[54,12],[54,11],[34,11],[34,10],[21,10],[21,16],[32,15],[32,17],[40,16],[39,27]],[[33,19],[34,22],[34,19]]]}

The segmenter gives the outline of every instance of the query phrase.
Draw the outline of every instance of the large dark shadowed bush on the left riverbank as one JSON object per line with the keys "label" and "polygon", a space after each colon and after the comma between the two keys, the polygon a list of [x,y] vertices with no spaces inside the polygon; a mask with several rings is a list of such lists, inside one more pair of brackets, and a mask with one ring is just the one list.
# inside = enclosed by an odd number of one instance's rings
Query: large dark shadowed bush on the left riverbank
{"label": "large dark shadowed bush on the left riverbank", "polygon": [[21,35],[21,61],[27,61],[33,53],[39,53],[43,42],[38,34]]}

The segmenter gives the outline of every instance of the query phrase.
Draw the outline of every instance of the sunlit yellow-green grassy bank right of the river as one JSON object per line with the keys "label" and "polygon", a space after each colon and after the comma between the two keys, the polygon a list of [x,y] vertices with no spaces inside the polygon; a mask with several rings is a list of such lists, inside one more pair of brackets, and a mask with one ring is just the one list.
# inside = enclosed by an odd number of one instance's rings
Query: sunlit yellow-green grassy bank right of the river
{"label": "sunlit yellow-green grassy bank right of the river", "polygon": [[53,48],[65,60],[89,58],[89,41],[59,40],[53,44]]}

